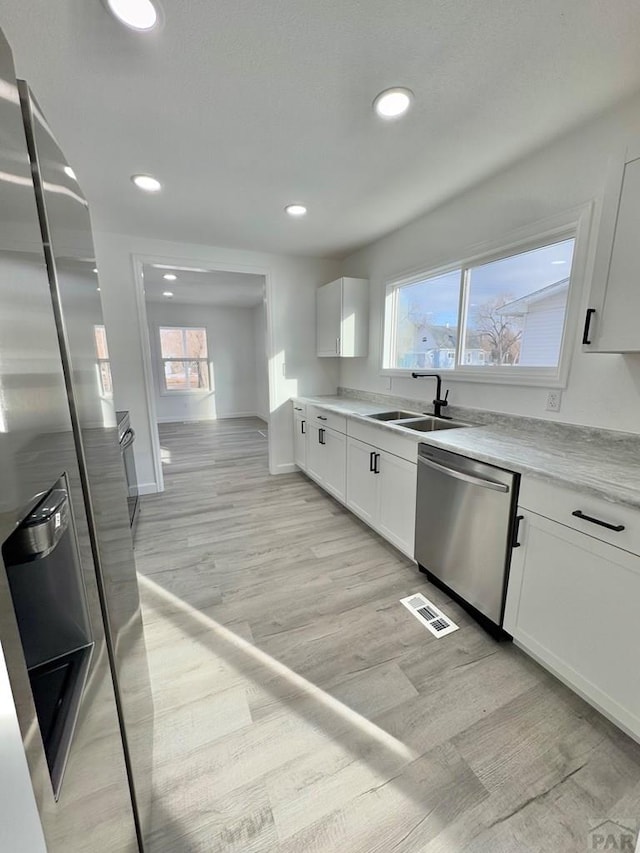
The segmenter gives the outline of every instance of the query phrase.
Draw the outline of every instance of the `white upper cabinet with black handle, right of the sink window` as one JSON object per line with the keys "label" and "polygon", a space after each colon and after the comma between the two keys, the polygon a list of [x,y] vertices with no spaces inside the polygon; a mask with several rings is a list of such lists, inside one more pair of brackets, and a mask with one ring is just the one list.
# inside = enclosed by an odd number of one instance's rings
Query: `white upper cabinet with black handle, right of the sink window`
{"label": "white upper cabinet with black handle, right of the sink window", "polygon": [[585,352],[640,352],[640,145],[612,163],[602,207]]}

